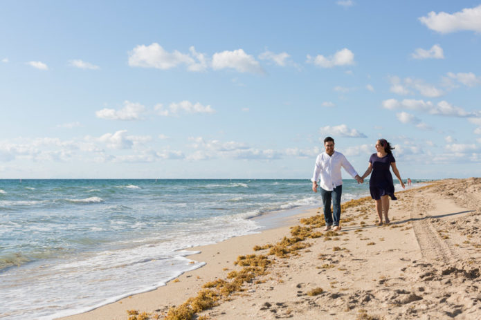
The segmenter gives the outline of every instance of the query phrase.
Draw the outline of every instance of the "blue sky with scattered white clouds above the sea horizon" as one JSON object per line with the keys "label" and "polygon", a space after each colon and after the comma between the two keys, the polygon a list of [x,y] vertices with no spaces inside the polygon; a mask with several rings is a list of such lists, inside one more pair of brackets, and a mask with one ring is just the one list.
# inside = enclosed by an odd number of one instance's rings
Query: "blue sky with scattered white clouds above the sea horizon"
{"label": "blue sky with scattered white clouds above the sea horizon", "polygon": [[481,176],[479,0],[0,6],[1,178]]}

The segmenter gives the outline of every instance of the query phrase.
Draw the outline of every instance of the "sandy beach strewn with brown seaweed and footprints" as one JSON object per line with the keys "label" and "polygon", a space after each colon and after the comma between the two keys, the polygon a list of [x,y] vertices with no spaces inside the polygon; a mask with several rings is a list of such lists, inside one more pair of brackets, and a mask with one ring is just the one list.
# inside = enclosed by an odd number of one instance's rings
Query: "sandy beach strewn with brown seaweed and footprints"
{"label": "sandy beach strewn with brown seaweed and footprints", "polygon": [[481,319],[481,178],[397,196],[389,225],[375,225],[370,198],[343,206],[337,233],[322,231],[320,209],[303,212],[192,248],[200,253],[189,258],[206,265],[62,319],[182,319],[185,308],[197,311],[192,319]]}

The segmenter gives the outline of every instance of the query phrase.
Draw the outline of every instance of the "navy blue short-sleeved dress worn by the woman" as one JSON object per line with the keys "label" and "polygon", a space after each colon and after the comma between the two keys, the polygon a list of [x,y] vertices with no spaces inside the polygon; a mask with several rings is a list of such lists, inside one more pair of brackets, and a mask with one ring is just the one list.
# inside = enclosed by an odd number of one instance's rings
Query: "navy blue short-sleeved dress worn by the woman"
{"label": "navy blue short-sleeved dress worn by the woman", "polygon": [[388,195],[392,200],[397,200],[394,196],[394,183],[390,171],[391,162],[396,162],[392,153],[388,153],[383,158],[379,158],[377,153],[372,153],[369,162],[372,164],[371,179],[369,189],[374,200],[381,199],[381,196]]}

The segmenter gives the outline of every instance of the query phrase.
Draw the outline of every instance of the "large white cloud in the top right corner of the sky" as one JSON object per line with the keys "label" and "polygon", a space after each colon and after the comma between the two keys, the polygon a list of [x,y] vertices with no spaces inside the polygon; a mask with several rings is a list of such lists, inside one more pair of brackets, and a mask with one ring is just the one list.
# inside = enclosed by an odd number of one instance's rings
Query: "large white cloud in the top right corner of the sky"
{"label": "large white cloud in the top right corner of the sky", "polygon": [[453,14],[431,11],[427,17],[420,17],[419,21],[431,30],[441,33],[460,30],[481,32],[481,6],[466,8]]}

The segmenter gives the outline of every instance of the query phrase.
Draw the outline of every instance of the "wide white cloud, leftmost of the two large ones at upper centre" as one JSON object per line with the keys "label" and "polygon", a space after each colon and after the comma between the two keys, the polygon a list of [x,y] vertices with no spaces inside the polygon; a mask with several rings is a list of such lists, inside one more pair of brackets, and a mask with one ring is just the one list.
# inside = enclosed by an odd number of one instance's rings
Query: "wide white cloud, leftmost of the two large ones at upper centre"
{"label": "wide white cloud, leftmost of the two large ones at upper centre", "polygon": [[156,43],[150,46],[136,46],[134,50],[129,52],[129,66],[167,70],[185,64],[190,71],[205,70],[208,66],[205,55],[197,53],[193,46],[189,50],[190,55],[180,53],[178,50],[169,53]]}

